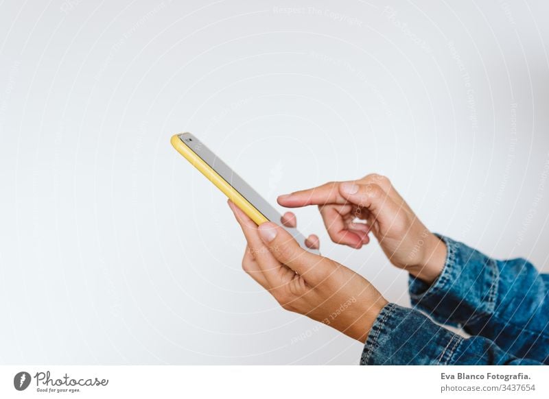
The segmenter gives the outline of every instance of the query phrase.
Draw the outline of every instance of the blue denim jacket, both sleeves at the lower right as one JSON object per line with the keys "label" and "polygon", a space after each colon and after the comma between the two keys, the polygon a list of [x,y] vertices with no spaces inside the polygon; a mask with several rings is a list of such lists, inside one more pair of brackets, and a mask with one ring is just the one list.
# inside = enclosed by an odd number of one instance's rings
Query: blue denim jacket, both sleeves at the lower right
{"label": "blue denim jacket, both sleeves at the lower right", "polygon": [[549,274],[522,258],[496,261],[439,237],[447,246],[441,275],[432,285],[410,276],[414,309],[393,303],[382,309],[360,364],[549,364]]}

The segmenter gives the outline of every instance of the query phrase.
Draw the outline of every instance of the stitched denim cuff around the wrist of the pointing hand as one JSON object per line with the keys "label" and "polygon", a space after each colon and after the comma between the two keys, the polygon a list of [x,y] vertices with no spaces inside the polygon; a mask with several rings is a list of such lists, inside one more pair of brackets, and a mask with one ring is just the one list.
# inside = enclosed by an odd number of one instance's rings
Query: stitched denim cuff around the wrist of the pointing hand
{"label": "stitched denim cuff around the wrist of the pointing hand", "polygon": [[463,243],[436,234],[447,247],[445,265],[432,285],[410,276],[412,306],[437,322],[467,326],[489,317],[498,293],[498,266]]}

